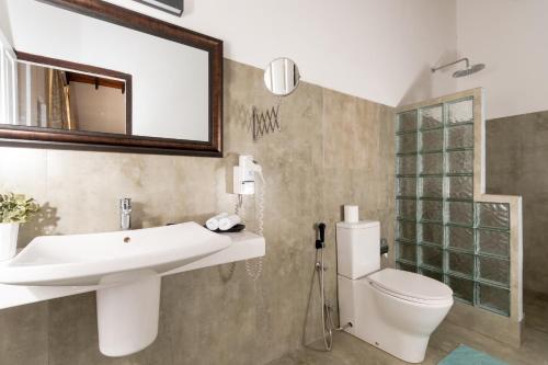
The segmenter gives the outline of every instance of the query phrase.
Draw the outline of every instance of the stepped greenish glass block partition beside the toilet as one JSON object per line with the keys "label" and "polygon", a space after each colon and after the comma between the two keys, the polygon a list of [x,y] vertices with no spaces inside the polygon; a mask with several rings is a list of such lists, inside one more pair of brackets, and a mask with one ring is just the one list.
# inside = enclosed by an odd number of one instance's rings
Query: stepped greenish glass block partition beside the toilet
{"label": "stepped greenish glass block partition beside the toilet", "polygon": [[473,99],[397,116],[400,270],[510,316],[510,206],[473,201]]}

